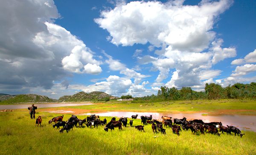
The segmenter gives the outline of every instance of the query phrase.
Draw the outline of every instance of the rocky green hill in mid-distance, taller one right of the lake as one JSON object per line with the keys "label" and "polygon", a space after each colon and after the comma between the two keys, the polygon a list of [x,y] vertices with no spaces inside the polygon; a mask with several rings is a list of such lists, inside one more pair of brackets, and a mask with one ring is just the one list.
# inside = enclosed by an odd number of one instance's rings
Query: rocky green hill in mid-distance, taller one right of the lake
{"label": "rocky green hill in mid-distance, taller one right of the lake", "polygon": [[108,95],[105,92],[79,92],[74,95],[66,95],[59,98],[59,102],[83,102],[83,101],[93,101],[93,100],[111,100],[116,97]]}

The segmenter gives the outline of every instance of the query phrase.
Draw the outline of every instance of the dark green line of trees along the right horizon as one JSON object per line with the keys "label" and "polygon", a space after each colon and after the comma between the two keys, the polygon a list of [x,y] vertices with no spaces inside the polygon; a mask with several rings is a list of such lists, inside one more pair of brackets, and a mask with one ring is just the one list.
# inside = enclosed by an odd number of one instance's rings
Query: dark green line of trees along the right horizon
{"label": "dark green line of trees along the right horizon", "polygon": [[168,88],[161,86],[157,95],[148,95],[144,97],[134,98],[135,100],[198,100],[198,99],[240,99],[240,98],[256,98],[256,83],[250,84],[236,83],[227,87],[222,87],[216,83],[206,83],[204,92],[196,92],[191,87],[175,87]]}

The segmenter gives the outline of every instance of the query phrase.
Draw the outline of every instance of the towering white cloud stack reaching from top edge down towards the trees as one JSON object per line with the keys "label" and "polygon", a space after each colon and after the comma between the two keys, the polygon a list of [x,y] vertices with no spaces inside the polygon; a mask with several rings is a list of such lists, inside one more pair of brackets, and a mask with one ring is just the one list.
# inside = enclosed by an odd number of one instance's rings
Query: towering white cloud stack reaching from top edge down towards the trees
{"label": "towering white cloud stack reaching from top edge down towards the trees", "polygon": [[176,71],[166,85],[198,86],[203,84],[201,80],[220,75],[221,71],[206,72],[213,70],[213,65],[236,56],[236,49],[222,48],[223,40],[212,31],[218,16],[232,3],[232,0],[202,0],[189,6],[183,5],[183,0],[135,1],[102,11],[95,22],[109,32],[109,41],[115,45],[150,43],[149,51],[158,47],[155,51],[158,57],[137,57],[141,64],[152,63],[151,71],[159,71],[155,86],[169,76],[171,69]]}

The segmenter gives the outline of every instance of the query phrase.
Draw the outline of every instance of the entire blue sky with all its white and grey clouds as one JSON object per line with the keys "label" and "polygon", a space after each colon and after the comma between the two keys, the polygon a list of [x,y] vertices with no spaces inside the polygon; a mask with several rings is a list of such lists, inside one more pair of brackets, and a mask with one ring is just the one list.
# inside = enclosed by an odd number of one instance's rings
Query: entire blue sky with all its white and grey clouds
{"label": "entire blue sky with all its white and grey clouds", "polygon": [[254,0],[0,5],[0,92],[156,94],[256,81]]}

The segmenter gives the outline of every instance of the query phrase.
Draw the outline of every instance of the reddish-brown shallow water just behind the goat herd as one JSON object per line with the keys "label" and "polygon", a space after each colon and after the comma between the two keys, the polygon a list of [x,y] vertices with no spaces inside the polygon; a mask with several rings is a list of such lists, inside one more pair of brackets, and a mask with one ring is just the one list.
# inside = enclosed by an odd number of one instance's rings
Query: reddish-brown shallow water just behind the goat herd
{"label": "reddish-brown shallow water just behind the goat herd", "polygon": [[[183,118],[186,117],[187,120],[192,119],[202,119],[204,122],[221,122],[224,126],[232,125],[236,126],[239,129],[249,129],[256,132],[256,116],[251,115],[202,115],[202,113],[194,114],[172,114],[172,113],[158,113],[158,112],[102,112],[102,113],[93,113],[99,116],[111,116],[111,117],[128,117],[131,118],[131,115],[138,114],[137,119],[140,119],[140,116],[149,116],[152,115],[153,119],[161,119],[162,116],[169,116],[174,118]],[[86,113],[83,115],[91,115],[91,113]]]}

